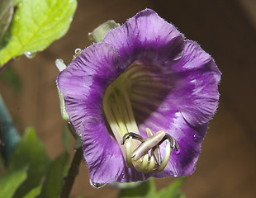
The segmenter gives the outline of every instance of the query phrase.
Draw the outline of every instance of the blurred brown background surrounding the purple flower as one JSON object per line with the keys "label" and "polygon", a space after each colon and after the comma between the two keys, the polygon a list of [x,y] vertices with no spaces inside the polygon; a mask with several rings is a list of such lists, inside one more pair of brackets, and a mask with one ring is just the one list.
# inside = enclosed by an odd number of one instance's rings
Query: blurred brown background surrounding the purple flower
{"label": "blurred brown background surrounding the purple flower", "polygon": [[[67,35],[34,59],[12,62],[22,92],[0,79],[2,97],[21,131],[34,125],[51,158],[63,151],[64,121],[55,87],[55,59],[69,64],[76,48],[90,45],[87,35],[100,23],[123,23],[145,7],[153,8],[191,40],[197,40],[220,68],[220,106],[202,144],[197,170],[187,178],[187,197],[255,197],[256,194],[256,0],[78,0]],[[173,178],[158,179],[168,186]],[[116,189],[93,189],[83,163],[72,195],[116,197]]]}

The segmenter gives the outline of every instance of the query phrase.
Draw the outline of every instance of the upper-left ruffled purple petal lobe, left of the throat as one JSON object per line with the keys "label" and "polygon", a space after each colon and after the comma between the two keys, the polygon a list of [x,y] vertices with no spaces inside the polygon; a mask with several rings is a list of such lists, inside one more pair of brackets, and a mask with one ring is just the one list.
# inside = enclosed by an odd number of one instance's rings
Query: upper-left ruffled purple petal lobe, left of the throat
{"label": "upper-left ruffled purple petal lobe, left of the throat", "polygon": [[102,114],[104,92],[121,73],[117,63],[116,50],[111,45],[99,43],[83,50],[68,68],[59,73],[59,90],[64,95],[70,121],[79,133],[86,116]]}

